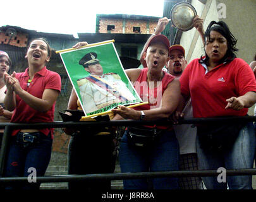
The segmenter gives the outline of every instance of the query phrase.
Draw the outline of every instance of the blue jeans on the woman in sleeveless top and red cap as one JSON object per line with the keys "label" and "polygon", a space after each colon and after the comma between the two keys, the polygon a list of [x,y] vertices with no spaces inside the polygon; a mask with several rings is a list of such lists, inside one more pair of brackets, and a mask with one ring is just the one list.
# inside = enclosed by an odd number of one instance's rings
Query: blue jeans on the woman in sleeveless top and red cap
{"label": "blue jeans on the woman in sleeveless top and red cap", "polygon": [[[119,152],[121,172],[178,170],[179,145],[174,131],[166,131],[149,149],[128,145],[127,133],[123,135]],[[178,178],[154,178],[152,187],[145,178],[124,180],[123,185],[124,189],[178,189]]]}

